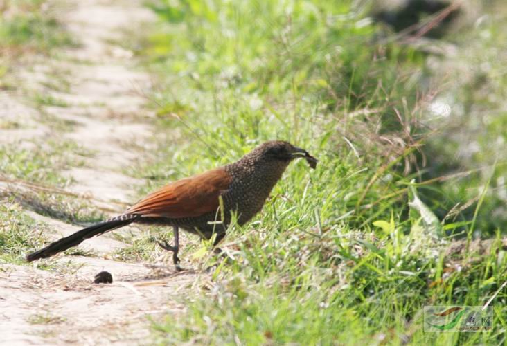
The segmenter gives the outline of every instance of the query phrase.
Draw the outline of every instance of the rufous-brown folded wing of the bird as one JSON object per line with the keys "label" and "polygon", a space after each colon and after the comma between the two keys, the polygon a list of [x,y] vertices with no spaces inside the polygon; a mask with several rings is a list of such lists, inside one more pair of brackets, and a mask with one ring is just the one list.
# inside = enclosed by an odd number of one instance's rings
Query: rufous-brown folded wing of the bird
{"label": "rufous-brown folded wing of the bird", "polygon": [[217,168],[170,183],[134,204],[128,214],[145,217],[199,217],[218,209],[218,197],[229,189],[231,176]]}

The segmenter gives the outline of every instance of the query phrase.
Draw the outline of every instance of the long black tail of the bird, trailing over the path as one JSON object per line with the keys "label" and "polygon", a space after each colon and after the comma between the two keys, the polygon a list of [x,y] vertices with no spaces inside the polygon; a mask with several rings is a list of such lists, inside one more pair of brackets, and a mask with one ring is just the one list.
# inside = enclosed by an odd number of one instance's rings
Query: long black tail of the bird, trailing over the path
{"label": "long black tail of the bird, trailing over the path", "polygon": [[39,258],[51,257],[57,253],[65,251],[68,248],[71,248],[72,246],[81,244],[81,242],[83,242],[85,239],[95,237],[96,235],[101,235],[109,230],[114,230],[116,228],[132,224],[132,222],[134,222],[138,217],[139,215],[124,214],[103,222],[99,222],[93,226],[83,228],[82,230],[78,230],[78,232],[73,233],[68,237],[59,239],[56,242],[53,242],[48,246],[41,248],[40,250],[26,255],[26,260],[28,262],[32,262],[39,260]]}

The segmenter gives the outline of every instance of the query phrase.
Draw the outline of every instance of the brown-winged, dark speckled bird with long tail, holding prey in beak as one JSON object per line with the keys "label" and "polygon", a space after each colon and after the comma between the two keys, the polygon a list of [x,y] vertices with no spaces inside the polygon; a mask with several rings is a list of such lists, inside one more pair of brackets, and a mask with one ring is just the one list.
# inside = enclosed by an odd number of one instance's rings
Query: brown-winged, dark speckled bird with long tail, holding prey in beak
{"label": "brown-winged, dark speckled bird with long tail, holding prey in beak", "polygon": [[283,172],[296,158],[304,158],[313,169],[317,166],[317,158],[305,149],[283,140],[267,141],[235,163],[168,183],[123,214],[52,242],[26,255],[26,260],[51,257],[86,239],[132,223],[154,224],[172,226],[174,244],[157,243],[172,252],[175,267],[181,270],[179,228],[202,239],[214,236],[213,246],[217,246],[225,237],[233,215],[239,225],[244,225],[263,208]]}

